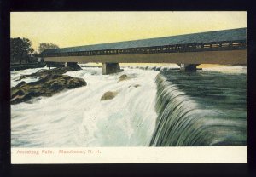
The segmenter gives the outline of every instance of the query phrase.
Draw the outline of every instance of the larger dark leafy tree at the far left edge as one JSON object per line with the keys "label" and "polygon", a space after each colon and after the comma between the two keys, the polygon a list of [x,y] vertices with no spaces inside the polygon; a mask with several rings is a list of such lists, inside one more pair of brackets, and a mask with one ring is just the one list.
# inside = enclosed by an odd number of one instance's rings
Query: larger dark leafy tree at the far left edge
{"label": "larger dark leafy tree at the far left edge", "polygon": [[22,63],[22,60],[28,62],[32,52],[32,42],[28,38],[11,38],[10,39],[10,57],[11,62]]}

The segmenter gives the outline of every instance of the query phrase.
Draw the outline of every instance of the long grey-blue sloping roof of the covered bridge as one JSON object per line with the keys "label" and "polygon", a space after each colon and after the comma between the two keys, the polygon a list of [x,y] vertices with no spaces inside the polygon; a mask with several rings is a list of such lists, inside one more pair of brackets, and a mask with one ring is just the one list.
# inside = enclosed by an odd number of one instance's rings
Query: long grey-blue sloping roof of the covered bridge
{"label": "long grey-blue sloping roof of the covered bridge", "polygon": [[69,53],[69,52],[84,52],[106,49],[129,49],[129,48],[143,48],[154,46],[165,46],[175,44],[188,43],[214,43],[225,41],[246,41],[247,28],[237,28],[223,31],[208,31],[193,34],[184,34],[171,37],[157,37],[140,39],[134,41],[125,41],[118,43],[102,43],[95,45],[84,45],[78,47],[61,48],[61,49],[46,49],[40,55]]}

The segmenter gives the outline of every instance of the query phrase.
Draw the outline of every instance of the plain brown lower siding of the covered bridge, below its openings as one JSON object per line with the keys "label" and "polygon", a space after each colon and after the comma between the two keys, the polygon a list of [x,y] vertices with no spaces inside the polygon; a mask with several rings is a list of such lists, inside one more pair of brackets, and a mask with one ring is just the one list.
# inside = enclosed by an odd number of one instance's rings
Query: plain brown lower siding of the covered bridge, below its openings
{"label": "plain brown lower siding of the covered bridge, below its openings", "polygon": [[120,54],[94,56],[45,57],[54,62],[102,63],[183,63],[183,64],[247,64],[247,49],[186,53]]}

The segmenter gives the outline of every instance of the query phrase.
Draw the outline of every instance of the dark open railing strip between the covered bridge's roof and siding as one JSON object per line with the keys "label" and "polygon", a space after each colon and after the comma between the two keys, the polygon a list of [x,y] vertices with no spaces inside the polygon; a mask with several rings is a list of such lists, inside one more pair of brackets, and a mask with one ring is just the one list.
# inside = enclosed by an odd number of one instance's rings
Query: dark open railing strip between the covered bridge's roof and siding
{"label": "dark open railing strip between the covered bridge's roof and siding", "polygon": [[201,51],[221,51],[247,49],[246,41],[223,41],[218,43],[186,43],[177,45],[127,48],[127,49],[104,49],[78,52],[55,52],[42,54],[43,57],[56,56],[93,56],[93,55],[113,55],[113,54],[157,54],[157,53],[184,53]]}

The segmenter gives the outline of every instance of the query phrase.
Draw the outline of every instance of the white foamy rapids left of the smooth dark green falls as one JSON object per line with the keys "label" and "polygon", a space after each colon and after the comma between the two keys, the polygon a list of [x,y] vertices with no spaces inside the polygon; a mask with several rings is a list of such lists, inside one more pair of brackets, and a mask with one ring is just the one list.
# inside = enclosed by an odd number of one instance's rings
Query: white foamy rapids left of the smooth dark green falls
{"label": "white foamy rapids left of the smooth dark green falls", "polygon": [[[34,71],[12,72],[12,82]],[[125,68],[103,76],[101,68],[86,67],[66,74],[84,78],[87,86],[11,106],[13,147],[149,145],[157,117],[157,71]],[[123,74],[134,78],[119,82]],[[118,94],[113,100],[101,100],[108,91]]]}

